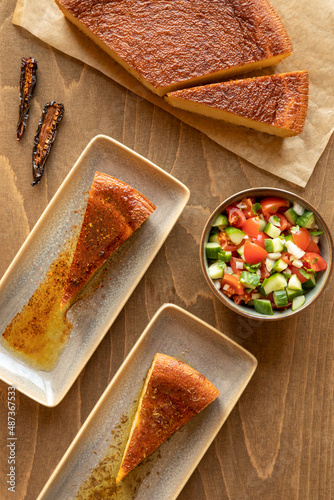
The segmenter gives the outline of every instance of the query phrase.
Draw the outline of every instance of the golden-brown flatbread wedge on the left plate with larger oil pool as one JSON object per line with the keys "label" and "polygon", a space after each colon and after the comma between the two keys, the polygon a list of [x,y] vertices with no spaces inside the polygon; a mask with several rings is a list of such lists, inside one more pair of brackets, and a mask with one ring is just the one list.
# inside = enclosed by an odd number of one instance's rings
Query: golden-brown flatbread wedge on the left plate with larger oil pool
{"label": "golden-brown flatbread wedge on the left plate with larger oil pool", "polygon": [[144,195],[111,175],[96,172],[86,212],[65,282],[64,307],[95,271],[154,212]]}

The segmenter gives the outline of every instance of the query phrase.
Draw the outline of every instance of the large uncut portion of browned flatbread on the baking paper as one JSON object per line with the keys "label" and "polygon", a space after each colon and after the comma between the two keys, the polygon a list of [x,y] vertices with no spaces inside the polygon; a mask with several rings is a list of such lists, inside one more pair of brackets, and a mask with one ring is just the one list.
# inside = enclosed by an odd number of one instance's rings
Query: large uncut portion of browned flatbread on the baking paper
{"label": "large uncut portion of browned flatbread on the baking paper", "polygon": [[55,0],[158,95],[277,65],[292,45],[268,0]]}

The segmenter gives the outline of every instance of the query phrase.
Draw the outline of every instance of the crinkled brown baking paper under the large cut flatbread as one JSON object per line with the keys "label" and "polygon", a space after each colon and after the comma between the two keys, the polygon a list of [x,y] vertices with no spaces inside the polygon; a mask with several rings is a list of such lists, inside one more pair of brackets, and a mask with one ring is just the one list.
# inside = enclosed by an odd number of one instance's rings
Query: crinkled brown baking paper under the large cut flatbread
{"label": "crinkled brown baking paper under the large cut flatbread", "polygon": [[304,187],[334,128],[334,2],[273,0],[272,4],[290,35],[294,51],[277,67],[261,74],[308,70],[310,78],[304,131],[297,137],[285,139],[172,108],[65,19],[54,0],[18,0],[13,23],[98,69],[253,165]]}

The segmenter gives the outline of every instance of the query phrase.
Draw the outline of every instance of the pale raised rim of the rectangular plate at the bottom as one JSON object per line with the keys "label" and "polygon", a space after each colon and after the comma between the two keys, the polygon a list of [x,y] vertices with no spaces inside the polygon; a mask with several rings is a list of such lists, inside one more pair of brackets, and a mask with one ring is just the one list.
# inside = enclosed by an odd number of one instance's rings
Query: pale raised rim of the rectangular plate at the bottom
{"label": "pale raised rim of the rectangular plate at the bottom", "polygon": [[235,342],[233,339],[231,339],[230,337],[228,337],[223,332],[219,331],[214,326],[210,325],[209,323],[207,323],[206,321],[202,320],[201,318],[198,318],[197,316],[195,316],[194,314],[190,313],[186,309],[183,309],[182,307],[180,307],[180,306],[178,306],[176,304],[172,304],[172,303],[168,303],[167,302],[167,303],[164,303],[163,305],[161,305],[159,307],[159,309],[154,313],[154,315],[152,316],[152,318],[150,319],[150,321],[148,322],[148,324],[144,328],[143,332],[140,334],[139,338],[137,339],[137,341],[135,342],[135,344],[133,345],[133,347],[129,351],[129,353],[126,356],[126,358],[121,363],[121,365],[118,368],[118,370],[115,372],[115,375],[113,376],[113,378],[111,379],[111,381],[109,382],[109,384],[107,385],[107,387],[104,389],[103,393],[101,394],[101,396],[99,397],[99,399],[95,403],[94,407],[90,411],[90,413],[87,416],[86,420],[84,421],[84,423],[82,424],[82,426],[78,430],[76,436],[73,438],[72,442],[68,446],[67,450],[65,451],[64,455],[62,456],[62,458],[58,462],[58,464],[55,467],[55,469],[53,470],[51,476],[49,477],[49,479],[45,483],[43,489],[39,493],[39,495],[38,495],[38,497],[37,497],[36,500],[43,500],[44,499],[45,494],[48,492],[48,489],[52,485],[53,481],[56,479],[58,473],[61,472],[62,467],[64,466],[64,464],[66,463],[66,461],[70,457],[71,453],[75,450],[75,448],[76,448],[78,442],[80,441],[82,435],[85,433],[86,429],[89,427],[89,425],[91,424],[91,422],[94,421],[94,418],[96,416],[96,413],[99,410],[100,405],[102,405],[104,403],[104,401],[108,398],[108,394],[109,394],[110,391],[112,391],[112,387],[115,385],[115,383],[120,378],[120,376],[122,374],[122,371],[123,371],[123,368],[125,368],[128,365],[128,363],[131,361],[131,359],[135,356],[137,348],[145,340],[146,335],[150,331],[150,329],[153,326],[153,324],[159,319],[160,315],[162,315],[164,313],[164,311],[166,311],[168,309],[178,311],[179,313],[181,313],[181,315],[184,315],[184,316],[190,318],[191,320],[193,320],[193,321],[195,321],[197,323],[200,323],[202,326],[204,326],[205,328],[207,328],[211,332],[214,332],[219,337],[222,337],[227,343],[229,343],[232,346],[234,346],[235,348],[237,348],[237,350],[241,351],[252,362],[252,367],[249,370],[249,373],[248,373],[247,377],[245,377],[244,382],[240,385],[240,387],[238,389],[238,392],[237,392],[237,395],[233,399],[233,402],[231,403],[231,405],[230,405],[230,407],[229,407],[226,415],[224,416],[224,418],[220,422],[220,425],[219,425],[219,428],[218,428],[217,432],[214,433],[212,439],[210,439],[208,441],[207,446],[204,447],[204,449],[202,450],[202,453],[198,454],[197,459],[194,461],[194,466],[192,468],[190,468],[191,470],[189,470],[188,474],[186,474],[185,479],[180,484],[180,486],[179,486],[179,488],[177,490],[176,495],[174,497],[172,497],[172,499],[173,500],[176,499],[177,496],[180,494],[181,490],[183,489],[183,487],[185,486],[185,484],[188,482],[190,476],[193,474],[193,472],[196,469],[197,465],[199,464],[200,460],[203,458],[203,456],[207,452],[209,446],[211,445],[211,443],[216,438],[218,432],[222,428],[222,426],[225,423],[226,419],[229,417],[231,411],[235,407],[237,401],[239,400],[240,396],[242,395],[242,393],[244,392],[244,390],[247,387],[248,383],[250,382],[251,378],[253,377],[254,372],[255,372],[255,370],[256,370],[256,368],[258,366],[258,360],[254,356],[254,354],[252,354],[251,352],[249,352],[243,346],[241,346],[240,344],[238,344],[237,342]]}

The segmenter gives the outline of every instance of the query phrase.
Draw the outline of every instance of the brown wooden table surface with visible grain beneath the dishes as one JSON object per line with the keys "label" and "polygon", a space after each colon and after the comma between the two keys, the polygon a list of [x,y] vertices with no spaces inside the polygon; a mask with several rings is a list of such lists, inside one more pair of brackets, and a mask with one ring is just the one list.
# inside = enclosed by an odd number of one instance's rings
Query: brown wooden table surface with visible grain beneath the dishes
{"label": "brown wooden table surface with visible grain beneath the dishes", "polygon": [[[211,211],[248,187],[280,187],[300,194],[333,228],[333,138],[307,187],[292,186],[13,26],[14,3],[0,4],[0,276],[97,134],[109,135],[153,161],[186,184],[191,196],[112,334],[107,333],[65,399],[46,408],[16,392],[15,493],[6,485],[7,385],[0,383],[0,498],[37,497],[148,321],[163,303],[172,302],[223,331],[259,362],[180,500],[334,499],[333,286],[302,314],[265,324],[223,306],[208,288],[198,258]],[[37,59],[38,85],[26,133],[17,142],[23,56]],[[33,188],[32,141],[42,107],[51,99],[64,103],[65,118],[45,176]]]}

